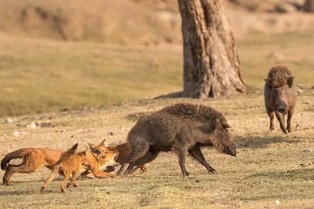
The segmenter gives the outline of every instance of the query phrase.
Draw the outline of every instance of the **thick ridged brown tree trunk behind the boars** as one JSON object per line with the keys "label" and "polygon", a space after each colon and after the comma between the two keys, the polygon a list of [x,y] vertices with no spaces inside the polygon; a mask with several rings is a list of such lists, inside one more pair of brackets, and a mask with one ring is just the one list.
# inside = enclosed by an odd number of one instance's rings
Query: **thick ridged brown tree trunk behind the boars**
{"label": "thick ridged brown tree trunk behind the boars", "polygon": [[205,98],[245,93],[225,1],[178,2],[183,33],[183,95]]}

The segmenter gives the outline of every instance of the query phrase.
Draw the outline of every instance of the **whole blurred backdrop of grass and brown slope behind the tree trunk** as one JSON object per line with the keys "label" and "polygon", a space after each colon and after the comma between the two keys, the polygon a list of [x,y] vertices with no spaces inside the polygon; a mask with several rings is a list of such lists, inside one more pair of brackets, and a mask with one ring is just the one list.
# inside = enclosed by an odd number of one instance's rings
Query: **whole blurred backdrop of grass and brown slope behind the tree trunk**
{"label": "whole blurred backdrop of grass and brown slope behind the tree trunk", "polygon": [[[229,0],[227,9],[251,91],[277,64],[313,88],[314,1]],[[177,0],[1,0],[0,13],[0,116],[183,89]]]}

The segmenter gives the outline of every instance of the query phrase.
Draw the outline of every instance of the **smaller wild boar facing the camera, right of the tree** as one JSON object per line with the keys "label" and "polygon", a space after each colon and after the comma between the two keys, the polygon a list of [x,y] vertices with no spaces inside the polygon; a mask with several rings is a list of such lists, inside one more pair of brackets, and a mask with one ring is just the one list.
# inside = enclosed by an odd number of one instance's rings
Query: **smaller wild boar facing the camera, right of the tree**
{"label": "smaller wild boar facing the camera, right of the tree", "polygon": [[[270,118],[270,130],[274,130],[274,112],[285,133],[291,132],[291,118],[294,112],[298,91],[291,72],[285,66],[275,66],[269,70],[265,79],[264,97],[267,114]],[[288,114],[287,128],[285,115]]]}

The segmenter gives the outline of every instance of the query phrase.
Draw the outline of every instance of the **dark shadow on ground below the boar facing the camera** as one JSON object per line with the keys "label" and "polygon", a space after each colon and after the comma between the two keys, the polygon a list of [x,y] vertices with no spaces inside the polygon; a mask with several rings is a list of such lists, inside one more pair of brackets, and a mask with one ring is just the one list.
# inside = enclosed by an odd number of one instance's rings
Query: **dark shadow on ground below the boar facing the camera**
{"label": "dark shadow on ground below the boar facing the camera", "polygon": [[238,137],[235,138],[237,148],[259,149],[266,148],[272,143],[293,143],[296,140],[288,139],[287,137]]}

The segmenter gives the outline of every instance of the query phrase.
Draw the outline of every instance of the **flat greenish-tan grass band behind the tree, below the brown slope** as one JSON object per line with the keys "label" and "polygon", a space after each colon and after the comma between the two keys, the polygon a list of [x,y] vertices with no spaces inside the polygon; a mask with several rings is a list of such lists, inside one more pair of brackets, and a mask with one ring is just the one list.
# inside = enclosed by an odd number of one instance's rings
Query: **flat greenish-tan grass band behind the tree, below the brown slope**
{"label": "flat greenish-tan grass band behind the tree, below the brown slope", "polygon": [[[242,74],[262,88],[267,71],[285,64],[296,82],[314,85],[314,33],[239,41]],[[117,46],[0,35],[0,116],[57,111],[182,91],[182,47]],[[280,52],[284,59],[268,58]]]}

